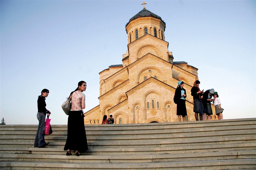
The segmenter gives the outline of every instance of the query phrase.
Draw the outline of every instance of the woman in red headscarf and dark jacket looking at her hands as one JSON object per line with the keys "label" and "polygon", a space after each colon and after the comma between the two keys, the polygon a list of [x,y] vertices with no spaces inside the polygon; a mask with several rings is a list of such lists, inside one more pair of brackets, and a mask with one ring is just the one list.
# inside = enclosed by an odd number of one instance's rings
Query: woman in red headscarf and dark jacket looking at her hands
{"label": "woman in red headscarf and dark jacket looking at her hands", "polygon": [[203,90],[201,91],[199,89],[199,84],[200,81],[196,80],[194,82],[194,86],[191,89],[191,96],[193,96],[193,100],[194,100],[194,113],[195,113],[195,118],[196,121],[198,121],[198,113],[199,113],[199,117],[200,120],[203,120],[203,103],[202,103],[202,95],[204,94]]}

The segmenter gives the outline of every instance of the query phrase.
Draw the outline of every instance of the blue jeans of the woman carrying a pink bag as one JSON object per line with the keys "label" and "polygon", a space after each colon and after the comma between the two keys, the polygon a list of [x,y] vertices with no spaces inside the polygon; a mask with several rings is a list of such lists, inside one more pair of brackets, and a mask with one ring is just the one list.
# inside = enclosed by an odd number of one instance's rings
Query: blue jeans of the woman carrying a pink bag
{"label": "blue jeans of the woman carrying a pink bag", "polygon": [[46,142],[44,141],[45,117],[46,117],[46,113],[37,112],[37,119],[39,121],[39,124],[37,128],[35,142],[34,142],[34,148],[37,148],[46,144]]}

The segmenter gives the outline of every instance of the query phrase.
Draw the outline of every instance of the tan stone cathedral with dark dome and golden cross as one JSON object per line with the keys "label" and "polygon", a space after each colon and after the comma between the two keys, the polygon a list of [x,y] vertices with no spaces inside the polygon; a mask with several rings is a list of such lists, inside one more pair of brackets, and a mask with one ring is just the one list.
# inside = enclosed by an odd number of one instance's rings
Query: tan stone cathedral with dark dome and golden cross
{"label": "tan stone cathedral with dark dome and golden cross", "polygon": [[[178,81],[187,91],[186,119],[196,120],[190,90],[198,80],[198,69],[173,61],[165,41],[165,22],[143,5],[126,24],[128,50],[122,64],[99,73],[99,105],[85,113],[85,124],[101,124],[104,115],[113,115],[114,124],[178,121],[173,101]],[[212,110],[212,119],[218,119],[213,105]]]}

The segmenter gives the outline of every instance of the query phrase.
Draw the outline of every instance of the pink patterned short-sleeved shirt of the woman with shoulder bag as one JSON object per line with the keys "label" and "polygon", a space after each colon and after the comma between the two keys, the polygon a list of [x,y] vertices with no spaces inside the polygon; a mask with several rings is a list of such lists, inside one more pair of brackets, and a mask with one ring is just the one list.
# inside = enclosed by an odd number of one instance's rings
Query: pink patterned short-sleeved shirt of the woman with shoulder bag
{"label": "pink patterned short-sleeved shirt of the woman with shoulder bag", "polygon": [[82,111],[82,100],[85,100],[85,94],[81,91],[75,91],[71,97],[70,111]]}

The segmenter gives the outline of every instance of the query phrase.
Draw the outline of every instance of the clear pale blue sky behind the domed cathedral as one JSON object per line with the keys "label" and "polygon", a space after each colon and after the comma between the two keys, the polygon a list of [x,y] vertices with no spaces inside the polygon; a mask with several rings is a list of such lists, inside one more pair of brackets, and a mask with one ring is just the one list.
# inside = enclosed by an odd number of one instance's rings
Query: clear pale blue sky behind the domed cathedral
{"label": "clear pale blue sky behind the domed cathedral", "polygon": [[[255,0],[148,0],[166,23],[174,61],[198,68],[223,118],[256,117]],[[51,124],[67,124],[61,105],[81,80],[86,108],[99,104],[99,73],[122,64],[125,25],[142,0],[0,0],[0,118],[38,124],[37,98],[49,90]]]}

